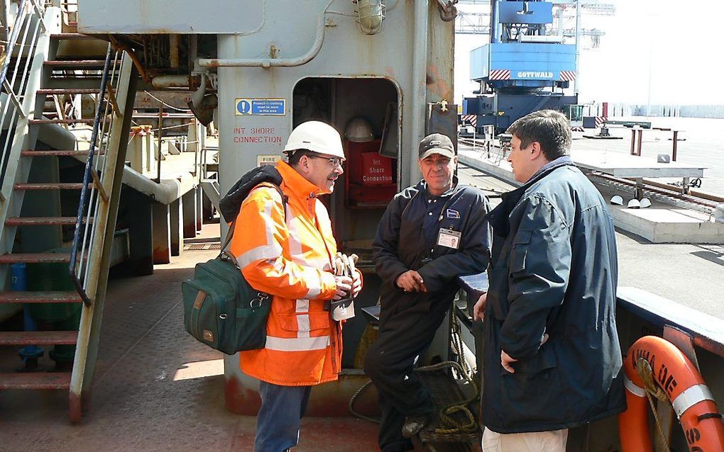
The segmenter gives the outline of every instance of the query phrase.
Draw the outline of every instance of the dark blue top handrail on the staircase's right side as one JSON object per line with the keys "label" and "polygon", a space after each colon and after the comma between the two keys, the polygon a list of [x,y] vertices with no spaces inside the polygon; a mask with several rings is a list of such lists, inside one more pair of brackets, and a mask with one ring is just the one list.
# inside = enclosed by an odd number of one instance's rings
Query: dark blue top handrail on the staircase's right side
{"label": "dark blue top handrail on the staircase's right side", "polygon": [[[102,140],[103,131],[101,131],[101,126],[106,123],[106,121],[104,121],[104,113],[108,110],[108,103],[104,102],[104,100],[106,97],[106,86],[109,86],[108,78],[111,68],[111,58],[113,58],[114,56],[115,52],[111,49],[111,46],[109,46],[106,53],[106,62],[104,64],[103,74],[101,75],[101,90],[98,94],[98,108],[96,108],[96,118],[95,121],[93,121],[93,132],[91,132],[90,134],[90,148],[88,149],[88,160],[85,161],[85,172],[83,174],[83,189],[81,189],[80,191],[80,202],[78,204],[78,214],[75,221],[75,233],[73,234],[73,247],[70,252],[70,265],[68,266],[68,273],[70,274],[71,281],[73,282],[75,289],[80,295],[80,298],[83,299],[83,303],[85,303],[85,305],[88,307],[90,307],[92,302],[90,301],[88,294],[86,294],[84,284],[81,281],[83,272],[78,271],[78,263],[79,261],[83,260],[83,258],[81,258],[80,260],[78,259],[78,250],[79,248],[82,248],[81,255],[83,257],[85,246],[81,247],[81,229],[88,231],[89,226],[91,229],[93,228],[92,225],[88,224],[90,216],[85,216],[85,201],[86,199],[89,200],[88,205],[90,207],[90,203],[93,201],[93,192],[95,190],[90,189],[89,185],[90,182],[92,182],[93,180],[98,180],[98,178],[94,178],[92,174],[93,171],[96,171],[96,169],[93,167],[93,156],[96,152],[96,142],[98,141],[98,135],[101,135]],[[101,187],[96,188],[101,189]],[[87,219],[84,221],[84,218]],[[85,227],[83,226],[84,223]],[[88,234],[84,234],[84,236],[85,238],[87,238]],[[85,245],[85,242],[83,243],[83,245]]]}

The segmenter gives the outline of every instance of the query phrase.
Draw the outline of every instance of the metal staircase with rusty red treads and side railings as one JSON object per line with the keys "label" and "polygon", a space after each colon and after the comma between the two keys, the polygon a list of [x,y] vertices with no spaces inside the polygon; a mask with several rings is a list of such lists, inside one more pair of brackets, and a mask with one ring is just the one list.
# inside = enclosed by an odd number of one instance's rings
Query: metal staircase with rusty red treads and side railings
{"label": "metal staircase with rusty red treads and side railings", "polygon": [[[0,282],[4,283],[0,286],[4,287],[0,304],[24,304],[28,311],[33,305],[75,303],[82,305],[80,326],[75,331],[0,331],[0,346],[24,346],[21,356],[25,359],[23,372],[0,371],[0,390],[68,390],[70,419],[77,422],[88,407],[98,353],[138,74],[130,56],[110,46],[105,59],[56,58],[63,40],[88,39],[61,31],[61,9],[46,7],[38,0],[22,0],[0,73],[0,124],[4,129],[0,137],[0,223],[4,225],[0,230]],[[78,80],[87,86],[89,79],[95,79],[99,88],[78,88]],[[67,115],[64,99],[77,95],[95,95],[94,119]],[[55,108],[46,112],[49,103]],[[66,129],[76,124],[93,124],[87,149],[81,145],[73,149],[47,149],[49,146],[43,142],[43,127],[49,127],[46,124],[61,124]],[[66,137],[70,135],[64,133]],[[82,177],[59,180],[59,168],[75,168],[80,164],[78,161],[85,162],[85,171],[77,171]],[[43,175],[47,179],[43,180]],[[29,201],[24,203],[25,198]],[[67,211],[69,198],[77,199],[76,216]],[[41,210],[55,210],[59,215],[28,215],[38,210],[38,205]],[[72,245],[64,239],[69,228],[75,228]],[[59,250],[33,250],[54,238],[62,244]],[[68,265],[64,278],[70,276],[72,284],[68,285],[75,287],[75,291],[32,290],[19,282],[25,280],[22,265],[29,273],[33,265],[59,263]],[[11,269],[13,264],[20,267]],[[26,312],[26,327],[33,323],[29,317],[32,316]],[[35,347],[73,345],[72,367],[70,360],[68,368],[51,372],[36,366]]]}

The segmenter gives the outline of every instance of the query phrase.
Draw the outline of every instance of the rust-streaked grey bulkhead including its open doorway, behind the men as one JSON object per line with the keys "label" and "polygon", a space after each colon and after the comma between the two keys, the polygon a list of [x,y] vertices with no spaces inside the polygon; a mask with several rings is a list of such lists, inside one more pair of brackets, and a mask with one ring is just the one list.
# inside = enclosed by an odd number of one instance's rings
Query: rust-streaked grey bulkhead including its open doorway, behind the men
{"label": "rust-streaked grey bulkhead including its open doorway, behind the men", "polygon": [[[308,414],[344,415],[350,396],[368,380],[361,367],[375,331],[360,308],[377,303],[380,286],[371,242],[387,203],[420,178],[417,148],[429,127],[429,103],[452,100],[446,80],[452,80],[454,27],[439,19],[434,5],[398,2],[387,10],[381,33],[365,34],[353,5],[334,2],[328,9],[349,7],[348,14],[330,9],[320,18],[328,2],[311,3],[267,9],[266,22],[253,33],[218,35],[209,62],[219,98],[222,194],[246,171],[282,158],[292,128],[303,121],[327,121],[342,136],[345,172],[323,202],[338,249],[360,257],[365,284],[356,316],[344,325],[342,378],[313,389]],[[433,27],[440,30],[432,33]],[[350,139],[348,125],[360,119],[371,129],[369,139]],[[447,341],[440,344],[447,350]],[[256,414],[258,382],[238,369],[237,357],[225,357],[224,371],[227,408]],[[366,391],[357,408],[376,411],[374,391]]]}

